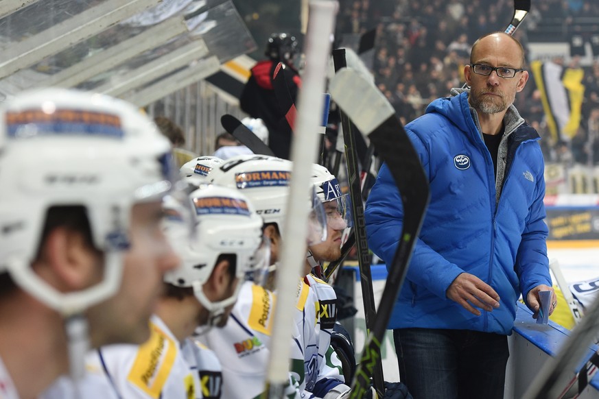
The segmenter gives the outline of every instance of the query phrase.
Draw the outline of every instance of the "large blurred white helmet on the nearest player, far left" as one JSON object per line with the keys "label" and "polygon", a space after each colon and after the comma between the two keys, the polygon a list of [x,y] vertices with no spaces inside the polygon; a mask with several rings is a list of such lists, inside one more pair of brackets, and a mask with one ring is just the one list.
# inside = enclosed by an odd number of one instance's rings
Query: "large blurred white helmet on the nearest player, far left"
{"label": "large blurred white helmet on the nearest player, far left", "polygon": [[[132,206],[161,199],[174,177],[170,143],[134,106],[58,88],[16,95],[0,110],[0,272],[63,315],[109,298],[120,285]],[[84,206],[104,252],[102,282],[61,293],[34,273],[51,206]]]}

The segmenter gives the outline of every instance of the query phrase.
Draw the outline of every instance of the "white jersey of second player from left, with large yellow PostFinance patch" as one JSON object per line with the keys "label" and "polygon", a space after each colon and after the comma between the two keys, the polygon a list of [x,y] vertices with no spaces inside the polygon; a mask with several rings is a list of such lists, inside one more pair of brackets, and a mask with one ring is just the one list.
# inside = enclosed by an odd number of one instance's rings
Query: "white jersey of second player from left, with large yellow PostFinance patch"
{"label": "white jersey of second player from left, with large yellow PostFinance patch", "polygon": [[43,399],[218,399],[222,374],[216,356],[198,343],[183,343],[153,316],[150,339],[141,346],[104,346],[86,357],[77,387],[60,378]]}

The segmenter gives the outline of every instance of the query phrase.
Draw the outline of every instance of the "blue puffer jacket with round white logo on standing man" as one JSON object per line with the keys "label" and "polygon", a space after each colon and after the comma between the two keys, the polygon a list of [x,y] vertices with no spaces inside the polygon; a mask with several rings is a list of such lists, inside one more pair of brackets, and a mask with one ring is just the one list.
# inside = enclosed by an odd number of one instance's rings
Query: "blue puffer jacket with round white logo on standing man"
{"label": "blue puffer jacket with round white logo on standing man", "polygon": [[[467,96],[437,99],[423,117],[406,125],[429,177],[431,202],[388,328],[509,335],[520,293],[526,298],[539,284],[551,286],[539,135],[511,106],[504,118],[507,143],[498,157],[505,162],[498,165],[504,178],[496,189],[493,160]],[[365,216],[368,244],[389,265],[403,208],[386,165],[368,197]],[[500,307],[477,317],[449,300],[445,291],[462,272],[493,287],[500,295]]]}

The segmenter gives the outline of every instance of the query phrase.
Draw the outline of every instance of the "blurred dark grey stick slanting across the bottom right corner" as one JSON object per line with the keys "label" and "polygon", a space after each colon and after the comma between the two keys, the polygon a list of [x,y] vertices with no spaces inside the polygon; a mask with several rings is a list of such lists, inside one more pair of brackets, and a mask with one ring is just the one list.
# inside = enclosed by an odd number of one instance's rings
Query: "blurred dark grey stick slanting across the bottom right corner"
{"label": "blurred dark grey stick slanting across the bottom right corner", "polygon": [[561,376],[564,373],[571,373],[576,370],[576,366],[580,358],[588,350],[589,345],[594,342],[595,337],[599,333],[599,298],[597,298],[585,312],[585,317],[580,321],[569,339],[565,341],[559,353],[548,359],[543,365],[535,380],[532,381],[530,387],[524,394],[524,399],[541,399],[541,398],[562,398],[569,388],[576,382],[578,392],[582,391],[590,378],[596,372],[598,356],[595,354],[591,359],[583,365],[580,372],[576,372],[574,378],[569,380],[565,389],[560,389],[556,383],[562,380]]}

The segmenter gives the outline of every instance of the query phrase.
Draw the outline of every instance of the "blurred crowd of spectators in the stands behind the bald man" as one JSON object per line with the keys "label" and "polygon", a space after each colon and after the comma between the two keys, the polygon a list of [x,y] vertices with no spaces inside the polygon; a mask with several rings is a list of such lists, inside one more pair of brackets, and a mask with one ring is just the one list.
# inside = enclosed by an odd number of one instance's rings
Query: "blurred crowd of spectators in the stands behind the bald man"
{"label": "blurred crowd of spectators in the stands behind the bald man", "polygon": [[[346,0],[338,19],[339,32],[362,34],[376,29],[373,73],[380,90],[407,123],[423,114],[427,104],[464,84],[474,40],[482,34],[503,31],[513,16],[513,0]],[[543,0],[533,5],[528,19],[515,32],[525,49],[535,29],[556,24],[552,40],[567,42],[580,30],[580,17],[599,21],[596,0]],[[599,25],[599,24],[597,24]],[[528,51],[527,51],[528,52]],[[599,164],[599,51],[585,70],[585,99],[580,130],[572,141],[548,134],[541,95],[531,77],[516,106],[541,134],[546,162]],[[531,60],[528,60],[529,62]],[[565,66],[578,66],[577,59]]]}

